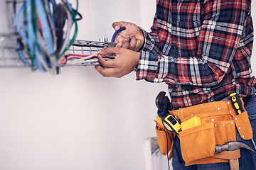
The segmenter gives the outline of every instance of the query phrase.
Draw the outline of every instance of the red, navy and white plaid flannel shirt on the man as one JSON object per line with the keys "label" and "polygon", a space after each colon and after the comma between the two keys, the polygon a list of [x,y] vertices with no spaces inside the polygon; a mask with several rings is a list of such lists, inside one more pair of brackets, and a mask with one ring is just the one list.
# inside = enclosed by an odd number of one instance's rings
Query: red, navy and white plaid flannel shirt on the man
{"label": "red, navy and white plaid flannel shirt on the man", "polygon": [[137,79],[165,82],[173,108],[255,93],[249,0],[157,0]]}

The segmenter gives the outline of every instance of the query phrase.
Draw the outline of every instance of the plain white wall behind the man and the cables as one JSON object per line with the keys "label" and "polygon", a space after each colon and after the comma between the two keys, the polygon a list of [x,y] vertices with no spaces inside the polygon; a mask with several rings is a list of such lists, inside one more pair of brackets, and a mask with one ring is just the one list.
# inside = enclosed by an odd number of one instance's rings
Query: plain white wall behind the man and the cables
{"label": "plain white wall behind the man and the cables", "polygon": [[[79,7],[78,39],[98,40],[111,38],[114,21],[149,30],[155,1],[82,0]],[[1,23],[5,15],[1,0]],[[134,73],[103,78],[94,67],[61,71],[0,69],[0,169],[145,169],[143,141],[156,135],[154,100],[166,85],[135,81]]]}

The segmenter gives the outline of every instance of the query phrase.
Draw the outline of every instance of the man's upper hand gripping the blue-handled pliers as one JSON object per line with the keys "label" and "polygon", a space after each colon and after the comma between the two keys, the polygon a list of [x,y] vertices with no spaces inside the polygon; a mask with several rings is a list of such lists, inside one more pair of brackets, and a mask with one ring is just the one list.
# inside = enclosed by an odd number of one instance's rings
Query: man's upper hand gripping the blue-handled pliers
{"label": "man's upper hand gripping the blue-handled pliers", "polygon": [[[117,47],[139,51],[144,44],[145,38],[142,30],[140,30],[138,26],[129,22],[115,22],[112,26],[114,30],[119,30],[119,28],[125,27],[125,30],[122,30],[117,34],[117,38],[114,41],[117,43]],[[129,39],[131,39],[131,42],[128,42]]]}

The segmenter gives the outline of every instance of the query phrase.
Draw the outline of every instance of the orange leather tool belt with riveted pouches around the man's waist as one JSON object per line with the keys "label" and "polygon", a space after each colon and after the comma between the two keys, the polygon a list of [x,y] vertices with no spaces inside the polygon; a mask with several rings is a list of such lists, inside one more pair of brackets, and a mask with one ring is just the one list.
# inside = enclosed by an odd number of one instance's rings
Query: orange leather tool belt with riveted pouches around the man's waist
{"label": "orange leather tool belt with riveted pouches around the man's waist", "polygon": [[[178,116],[181,123],[195,116],[201,119],[201,125],[182,130],[178,134],[181,142],[181,154],[186,166],[228,162],[228,159],[223,159],[223,157],[218,157],[218,154],[215,154],[215,147],[216,145],[224,145],[225,142],[236,141],[235,127],[243,140],[252,139],[252,126],[247,111],[237,115],[231,101],[203,103],[169,111],[169,113]],[[166,155],[170,151],[169,159],[171,159],[174,145],[171,132],[164,128],[159,116],[156,117],[156,121],[167,132],[166,135],[164,130],[156,128],[161,153]],[[166,137],[168,138],[168,146]],[[240,153],[238,157],[240,157]]]}

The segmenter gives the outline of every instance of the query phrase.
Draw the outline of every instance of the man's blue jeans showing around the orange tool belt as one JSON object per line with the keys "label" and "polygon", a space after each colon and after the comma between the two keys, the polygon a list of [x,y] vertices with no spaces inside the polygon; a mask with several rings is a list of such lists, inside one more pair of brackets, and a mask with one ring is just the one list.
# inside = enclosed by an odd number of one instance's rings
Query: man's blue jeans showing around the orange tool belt
{"label": "man's blue jeans showing around the orange tool belt", "polygon": [[[252,98],[250,102],[245,107],[245,110],[248,113],[250,123],[252,125],[253,131],[253,140],[256,143],[256,97]],[[252,140],[242,140],[240,137],[238,130],[237,130],[237,141],[243,142],[248,145],[250,148],[255,150],[255,147],[252,144]],[[198,165],[191,165],[185,166],[185,162],[181,156],[181,146],[178,137],[175,138],[175,145],[177,147],[177,151],[174,148],[173,152],[173,159],[172,159],[172,166],[174,170],[230,170],[229,163],[218,163],[218,164],[198,164]],[[241,157],[239,158],[239,167],[240,170],[256,170],[256,154],[248,151],[247,149],[240,149]],[[181,163],[178,160],[178,155],[181,157]]]}

